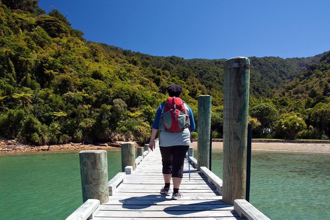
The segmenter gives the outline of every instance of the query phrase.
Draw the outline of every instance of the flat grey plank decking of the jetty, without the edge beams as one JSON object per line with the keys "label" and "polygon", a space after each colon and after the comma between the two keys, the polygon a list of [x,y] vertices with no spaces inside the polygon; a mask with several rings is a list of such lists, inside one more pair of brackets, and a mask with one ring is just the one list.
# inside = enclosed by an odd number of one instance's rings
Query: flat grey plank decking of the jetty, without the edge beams
{"label": "flat grey plank decking of the jetty, without the edge beams", "polygon": [[191,165],[189,181],[187,160],[180,187],[183,197],[171,200],[172,193],[160,194],[163,185],[161,155],[156,144],[156,149],[150,151],[136,170],[126,175],[114,195],[109,196],[109,202],[99,206],[100,210],[93,219],[242,219],[234,212],[234,206],[222,202],[215,185],[209,184],[207,177]]}

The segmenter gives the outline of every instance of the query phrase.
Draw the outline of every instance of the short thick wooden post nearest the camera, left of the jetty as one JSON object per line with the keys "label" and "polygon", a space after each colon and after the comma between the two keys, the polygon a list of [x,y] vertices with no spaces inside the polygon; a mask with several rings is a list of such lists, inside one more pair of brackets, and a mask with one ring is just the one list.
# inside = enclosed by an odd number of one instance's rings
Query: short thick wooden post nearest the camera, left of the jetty
{"label": "short thick wooden post nearest the camera, left of the jetty", "polygon": [[82,201],[98,199],[100,204],[109,201],[107,151],[79,152],[82,181]]}

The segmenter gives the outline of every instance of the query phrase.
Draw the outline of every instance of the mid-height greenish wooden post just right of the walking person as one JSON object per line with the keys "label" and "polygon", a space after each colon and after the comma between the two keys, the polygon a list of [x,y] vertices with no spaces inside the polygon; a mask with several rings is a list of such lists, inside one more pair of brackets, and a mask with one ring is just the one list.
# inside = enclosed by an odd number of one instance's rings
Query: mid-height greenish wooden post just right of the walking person
{"label": "mid-height greenish wooden post just right of the walking person", "polygon": [[197,170],[200,167],[209,168],[210,161],[210,129],[211,129],[211,96],[197,98]]}

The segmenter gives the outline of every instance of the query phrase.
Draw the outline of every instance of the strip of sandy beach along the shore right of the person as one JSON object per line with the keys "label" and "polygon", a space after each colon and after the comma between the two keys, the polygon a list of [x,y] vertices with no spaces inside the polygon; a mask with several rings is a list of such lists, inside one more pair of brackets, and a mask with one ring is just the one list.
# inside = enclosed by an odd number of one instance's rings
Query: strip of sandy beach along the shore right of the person
{"label": "strip of sandy beach along the shore right of the person", "polygon": [[[197,142],[190,144],[197,148]],[[212,149],[222,149],[222,142],[212,142]],[[289,152],[309,152],[309,153],[329,153],[330,142],[328,144],[318,143],[252,143],[252,151],[289,151]]]}

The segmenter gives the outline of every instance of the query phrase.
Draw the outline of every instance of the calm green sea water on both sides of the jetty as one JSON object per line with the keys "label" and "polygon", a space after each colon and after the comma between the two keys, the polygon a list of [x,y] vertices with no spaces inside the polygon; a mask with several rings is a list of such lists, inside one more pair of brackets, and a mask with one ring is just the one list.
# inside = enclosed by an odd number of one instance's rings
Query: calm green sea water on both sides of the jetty
{"label": "calm green sea water on both sides of the jetty", "polygon": [[[222,179],[222,151],[212,156]],[[109,180],[120,157],[108,151]],[[250,203],[270,219],[329,217],[329,154],[252,151],[251,161]],[[65,219],[82,204],[79,152],[0,155],[0,204],[0,219]]]}

